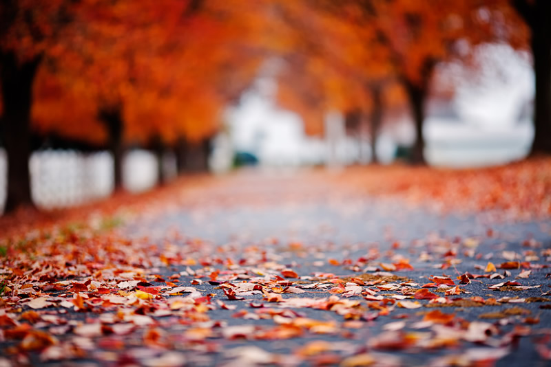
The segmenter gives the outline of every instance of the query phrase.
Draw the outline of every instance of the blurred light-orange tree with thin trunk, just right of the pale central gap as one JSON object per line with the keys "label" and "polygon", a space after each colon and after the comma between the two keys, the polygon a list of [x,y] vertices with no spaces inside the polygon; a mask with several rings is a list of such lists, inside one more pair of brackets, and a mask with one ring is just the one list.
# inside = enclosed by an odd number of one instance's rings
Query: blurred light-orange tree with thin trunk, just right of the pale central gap
{"label": "blurred light-orange tree with thin trunk, just right of the pale central gap", "polygon": [[395,77],[388,47],[373,24],[357,19],[358,10],[355,2],[304,1],[286,4],[282,16],[299,40],[287,52],[302,54],[308,65],[304,73],[320,80],[320,107],[353,111],[356,130],[366,131],[368,122],[376,163],[377,135],[387,102],[383,96]]}

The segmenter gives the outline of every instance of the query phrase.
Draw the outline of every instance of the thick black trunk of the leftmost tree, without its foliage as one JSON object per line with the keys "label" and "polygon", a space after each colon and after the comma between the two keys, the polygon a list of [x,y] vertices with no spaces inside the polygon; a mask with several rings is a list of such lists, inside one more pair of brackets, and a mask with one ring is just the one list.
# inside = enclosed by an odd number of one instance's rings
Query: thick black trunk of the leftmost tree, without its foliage
{"label": "thick black trunk of the leftmost tree, without its foliage", "polygon": [[32,206],[30,192],[30,111],[32,85],[41,56],[23,63],[13,52],[0,52],[3,115],[1,131],[8,156],[8,196],[4,212]]}

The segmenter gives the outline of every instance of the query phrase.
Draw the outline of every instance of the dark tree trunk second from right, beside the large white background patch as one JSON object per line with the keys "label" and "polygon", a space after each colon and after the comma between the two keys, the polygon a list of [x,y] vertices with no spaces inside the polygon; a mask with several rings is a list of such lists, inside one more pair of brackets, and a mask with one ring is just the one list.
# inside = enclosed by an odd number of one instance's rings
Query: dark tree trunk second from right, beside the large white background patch
{"label": "dark tree trunk second from right, beside the large white background patch", "polygon": [[404,85],[415,124],[415,143],[410,154],[410,162],[412,164],[424,165],[426,161],[424,155],[425,138],[423,136],[423,121],[425,119],[426,85],[417,85],[410,80],[406,80]]}

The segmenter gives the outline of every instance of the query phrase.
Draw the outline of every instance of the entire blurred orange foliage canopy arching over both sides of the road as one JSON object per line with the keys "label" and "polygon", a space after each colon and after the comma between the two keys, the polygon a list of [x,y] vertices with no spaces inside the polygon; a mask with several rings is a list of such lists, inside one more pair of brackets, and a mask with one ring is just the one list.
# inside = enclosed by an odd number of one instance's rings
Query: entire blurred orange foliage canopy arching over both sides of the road
{"label": "entire blurred orange foliage canopy arching over both sides of the road", "polygon": [[372,109],[374,85],[394,85],[384,103],[400,103],[396,82],[426,89],[440,60],[528,39],[508,0],[21,0],[0,16],[16,19],[2,49],[45,60],[34,129],[95,144],[98,110],[114,106],[129,142],[212,135],[267,57],[287,61],[279,102],[320,133],[325,111]]}

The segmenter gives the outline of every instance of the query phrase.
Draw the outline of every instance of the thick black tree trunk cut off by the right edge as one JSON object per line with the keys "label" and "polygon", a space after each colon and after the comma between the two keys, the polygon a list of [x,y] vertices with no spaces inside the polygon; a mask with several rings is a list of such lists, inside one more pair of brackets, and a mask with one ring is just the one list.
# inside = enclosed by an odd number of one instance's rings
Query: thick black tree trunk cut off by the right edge
{"label": "thick black tree trunk cut off by the right edge", "polygon": [[530,27],[536,96],[534,141],[530,155],[551,154],[551,1],[515,0],[515,8]]}

